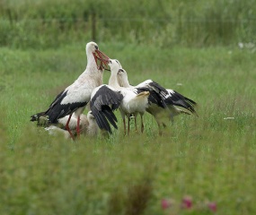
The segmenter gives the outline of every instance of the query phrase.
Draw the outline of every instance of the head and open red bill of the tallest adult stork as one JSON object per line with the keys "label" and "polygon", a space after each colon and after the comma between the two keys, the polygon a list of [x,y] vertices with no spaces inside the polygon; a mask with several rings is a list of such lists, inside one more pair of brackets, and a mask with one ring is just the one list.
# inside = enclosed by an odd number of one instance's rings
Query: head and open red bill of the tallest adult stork
{"label": "head and open red bill of the tallest adult stork", "polygon": [[90,56],[92,54],[99,70],[104,69],[109,63],[110,57],[101,52],[95,42],[89,42],[86,44],[86,55]]}

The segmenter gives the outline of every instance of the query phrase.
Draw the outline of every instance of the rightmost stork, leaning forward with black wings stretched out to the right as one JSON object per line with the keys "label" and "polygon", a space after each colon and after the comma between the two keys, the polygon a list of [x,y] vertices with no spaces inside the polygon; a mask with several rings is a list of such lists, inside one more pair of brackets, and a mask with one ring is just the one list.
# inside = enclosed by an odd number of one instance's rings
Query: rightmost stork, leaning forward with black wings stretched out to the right
{"label": "rightmost stork, leaning forward with black wings stretched out to the right", "polygon": [[[150,92],[150,105],[148,108],[146,108],[146,111],[154,116],[154,119],[157,122],[159,129],[161,129],[161,124],[165,126],[164,119],[166,118],[166,116],[167,118],[170,117],[173,122],[173,116],[180,115],[181,113],[188,115],[190,115],[190,113],[193,113],[197,115],[194,109],[196,102],[192,99],[188,99],[182,96],[175,90],[166,90],[157,82],[154,82],[152,80],[147,80],[138,84],[137,86],[132,86],[129,84],[128,74],[124,70],[119,70],[118,79],[119,85],[123,87],[135,89],[138,92],[141,89]],[[176,106],[183,107],[188,111],[182,110]]]}

